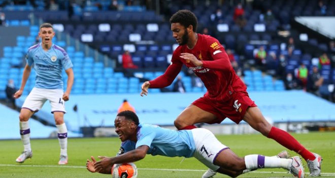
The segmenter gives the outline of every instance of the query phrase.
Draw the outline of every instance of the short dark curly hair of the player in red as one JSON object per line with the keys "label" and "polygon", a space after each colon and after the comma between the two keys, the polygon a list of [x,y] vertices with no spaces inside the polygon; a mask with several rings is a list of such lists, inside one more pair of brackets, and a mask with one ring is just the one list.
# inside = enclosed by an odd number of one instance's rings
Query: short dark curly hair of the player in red
{"label": "short dark curly hair of the player in red", "polygon": [[176,12],[171,18],[170,23],[180,23],[185,28],[190,25],[193,26],[193,32],[196,32],[196,27],[198,25],[198,20],[195,15],[189,10],[180,10]]}

